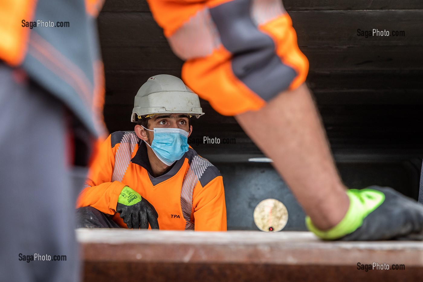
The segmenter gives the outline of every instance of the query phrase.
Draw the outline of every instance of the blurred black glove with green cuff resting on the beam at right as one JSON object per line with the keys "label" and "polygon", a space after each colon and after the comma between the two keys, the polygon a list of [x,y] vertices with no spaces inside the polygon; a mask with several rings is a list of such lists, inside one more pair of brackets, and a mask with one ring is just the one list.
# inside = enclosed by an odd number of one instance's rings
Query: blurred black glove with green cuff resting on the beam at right
{"label": "blurred black glove with green cuff resting on the beam at right", "polygon": [[306,223],[326,240],[423,240],[423,205],[389,187],[370,186],[347,192],[350,207],[343,220],[327,231]]}

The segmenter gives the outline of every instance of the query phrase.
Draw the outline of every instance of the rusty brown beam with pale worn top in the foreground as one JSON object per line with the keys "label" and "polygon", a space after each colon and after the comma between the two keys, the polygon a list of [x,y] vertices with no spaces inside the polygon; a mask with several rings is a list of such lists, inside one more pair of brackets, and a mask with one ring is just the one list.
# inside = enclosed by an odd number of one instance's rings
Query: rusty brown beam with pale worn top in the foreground
{"label": "rusty brown beam with pale worn top in the foreground", "polygon": [[[423,243],[416,241],[324,242],[310,232],[119,229],[78,229],[77,238],[85,281],[420,281],[423,274]],[[357,263],[398,264],[405,270],[367,272]]]}

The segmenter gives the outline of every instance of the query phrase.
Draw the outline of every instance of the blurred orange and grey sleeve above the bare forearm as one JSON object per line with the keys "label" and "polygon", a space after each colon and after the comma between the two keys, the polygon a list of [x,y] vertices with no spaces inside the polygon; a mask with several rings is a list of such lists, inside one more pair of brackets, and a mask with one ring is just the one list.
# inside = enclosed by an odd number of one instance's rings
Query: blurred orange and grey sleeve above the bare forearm
{"label": "blurred orange and grey sleeve above the bare forearm", "polygon": [[304,83],[308,61],[281,0],[148,0],[182,79],[223,115]]}

